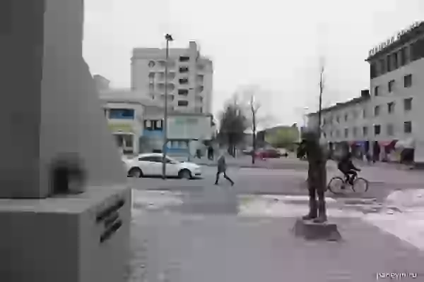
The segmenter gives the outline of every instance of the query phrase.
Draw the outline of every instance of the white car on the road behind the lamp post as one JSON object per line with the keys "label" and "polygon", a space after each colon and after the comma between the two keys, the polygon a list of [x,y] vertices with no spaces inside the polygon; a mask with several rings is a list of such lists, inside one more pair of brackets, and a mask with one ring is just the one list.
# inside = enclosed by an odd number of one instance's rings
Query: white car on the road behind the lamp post
{"label": "white car on the road behind the lamp post", "polygon": [[[143,176],[161,176],[162,175],[163,154],[139,154],[132,159],[122,159],[126,166],[128,176],[140,178]],[[201,177],[201,168],[197,164],[177,161],[166,157],[166,176],[179,178],[199,178]]]}

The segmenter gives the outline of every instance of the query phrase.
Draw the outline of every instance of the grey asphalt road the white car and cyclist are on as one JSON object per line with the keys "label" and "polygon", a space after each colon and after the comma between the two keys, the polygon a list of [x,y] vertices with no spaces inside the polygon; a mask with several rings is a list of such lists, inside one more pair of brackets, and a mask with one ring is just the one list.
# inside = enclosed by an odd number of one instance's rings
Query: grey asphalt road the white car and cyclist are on
{"label": "grey asphalt road the white car and cyclist are on", "polygon": [[[254,195],[307,195],[305,180],[307,170],[299,161],[285,161],[286,169],[267,168],[240,168],[230,166],[228,176],[235,181],[232,190],[237,194]],[[131,186],[136,190],[172,190],[172,191],[192,191],[196,192],[200,188],[214,189],[213,183],[216,177],[216,167],[203,166],[203,177],[195,180],[180,180],[161,178],[129,178]],[[328,197],[363,197],[375,198],[383,201],[393,190],[406,188],[424,188],[424,173],[415,171],[399,171],[395,168],[363,167],[360,176],[366,178],[370,185],[365,193],[354,193],[346,190],[342,196],[332,195],[327,192]],[[328,180],[340,173],[334,166],[329,165]],[[230,183],[222,176],[220,186],[229,187]]]}

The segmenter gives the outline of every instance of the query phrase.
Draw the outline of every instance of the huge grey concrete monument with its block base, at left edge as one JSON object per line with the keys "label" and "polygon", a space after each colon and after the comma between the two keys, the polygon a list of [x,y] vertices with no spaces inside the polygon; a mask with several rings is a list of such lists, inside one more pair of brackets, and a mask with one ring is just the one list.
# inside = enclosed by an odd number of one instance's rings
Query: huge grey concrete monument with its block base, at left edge
{"label": "huge grey concrete monument with its block base, at left edge", "polygon": [[131,192],[83,0],[0,1],[0,281],[123,281]]}

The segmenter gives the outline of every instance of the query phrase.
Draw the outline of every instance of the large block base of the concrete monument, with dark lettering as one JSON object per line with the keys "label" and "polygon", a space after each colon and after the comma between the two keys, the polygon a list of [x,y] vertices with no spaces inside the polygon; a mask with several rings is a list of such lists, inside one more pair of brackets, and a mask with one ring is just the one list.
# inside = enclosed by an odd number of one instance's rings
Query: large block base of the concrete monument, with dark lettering
{"label": "large block base of the concrete monument, with dark lettering", "polygon": [[131,190],[0,199],[1,281],[124,282]]}

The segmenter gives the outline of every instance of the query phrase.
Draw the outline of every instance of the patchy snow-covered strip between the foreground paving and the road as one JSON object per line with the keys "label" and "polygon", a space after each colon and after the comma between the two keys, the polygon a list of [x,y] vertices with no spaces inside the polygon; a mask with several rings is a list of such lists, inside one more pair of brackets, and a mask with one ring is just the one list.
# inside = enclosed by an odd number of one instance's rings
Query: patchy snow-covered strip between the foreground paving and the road
{"label": "patchy snow-covered strip between the foreground paving and the road", "polygon": [[[303,195],[239,195],[239,217],[293,218],[307,214],[307,196]],[[331,218],[356,218],[395,235],[424,250],[424,209],[401,212],[373,199],[326,198],[327,213]],[[160,210],[183,204],[182,192],[133,190],[134,219],[145,210]],[[365,209],[369,211],[366,212]]]}

